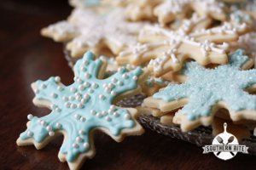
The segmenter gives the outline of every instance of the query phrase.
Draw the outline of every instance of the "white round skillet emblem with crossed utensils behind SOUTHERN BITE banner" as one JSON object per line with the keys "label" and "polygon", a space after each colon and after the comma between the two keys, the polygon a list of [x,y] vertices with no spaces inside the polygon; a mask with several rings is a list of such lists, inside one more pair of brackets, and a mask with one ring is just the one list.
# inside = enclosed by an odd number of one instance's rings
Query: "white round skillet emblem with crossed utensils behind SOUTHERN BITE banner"
{"label": "white round skillet emblem with crossed utensils behind SOUTHERN BITE banner", "polygon": [[[227,132],[227,123],[224,123],[224,132],[219,133],[213,140],[212,145],[218,145],[218,147],[229,148],[231,145],[239,144],[236,137]],[[222,146],[223,145],[223,146]],[[229,160],[236,156],[237,151],[213,151],[213,154],[222,160]]]}

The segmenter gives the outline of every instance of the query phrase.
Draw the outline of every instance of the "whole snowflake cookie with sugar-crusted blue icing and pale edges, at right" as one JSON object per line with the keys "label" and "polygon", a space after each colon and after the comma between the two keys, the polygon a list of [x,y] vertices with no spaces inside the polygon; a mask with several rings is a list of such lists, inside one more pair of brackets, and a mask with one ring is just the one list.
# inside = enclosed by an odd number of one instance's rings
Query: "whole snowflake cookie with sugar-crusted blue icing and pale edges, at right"
{"label": "whole snowflake cookie with sugar-crusted blue icing and pale edges, at right", "polygon": [[164,88],[145,99],[144,105],[162,112],[183,106],[173,118],[183,131],[201,124],[209,126],[220,108],[227,109],[234,122],[256,121],[256,96],[247,92],[255,90],[256,70],[240,71],[240,68],[250,68],[252,59],[243,55],[242,50],[230,54],[229,59],[229,64],[214,69],[206,69],[196,62],[186,63],[181,73],[187,81]]}

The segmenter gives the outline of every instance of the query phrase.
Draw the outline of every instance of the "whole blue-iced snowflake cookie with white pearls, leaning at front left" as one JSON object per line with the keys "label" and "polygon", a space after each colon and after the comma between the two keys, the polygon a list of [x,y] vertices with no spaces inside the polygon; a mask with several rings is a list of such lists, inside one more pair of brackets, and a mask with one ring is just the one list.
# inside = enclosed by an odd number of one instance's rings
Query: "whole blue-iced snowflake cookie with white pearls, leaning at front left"
{"label": "whole blue-iced snowflake cookie with white pearls, leaning at front left", "polygon": [[121,141],[125,135],[138,135],[143,128],[136,121],[135,109],[113,105],[119,99],[139,92],[137,85],[143,71],[120,68],[107,79],[102,78],[106,68],[102,59],[93,60],[93,54],[84,54],[74,66],[74,82],[64,86],[60,77],[32,83],[36,94],[34,103],[50,108],[48,116],[28,115],[27,129],[20,134],[18,145],[34,144],[41,149],[49,140],[62,133],[65,138],[59,159],[67,161],[71,169],[94,156],[93,132],[96,129]]}

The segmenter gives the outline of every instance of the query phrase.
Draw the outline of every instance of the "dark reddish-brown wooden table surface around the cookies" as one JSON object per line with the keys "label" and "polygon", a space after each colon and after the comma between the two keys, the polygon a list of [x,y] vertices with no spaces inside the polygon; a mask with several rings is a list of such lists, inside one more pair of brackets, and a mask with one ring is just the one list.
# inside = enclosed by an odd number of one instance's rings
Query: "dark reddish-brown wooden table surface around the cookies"
{"label": "dark reddish-brown wooden table surface around the cookies", "polygon": [[[2,0],[0,26],[0,169],[68,169],[57,158],[62,138],[43,150],[17,147],[15,140],[26,128],[26,116],[44,116],[49,111],[32,105],[30,84],[60,76],[73,81],[73,72],[62,54],[61,43],[41,37],[39,31],[70,13],[67,1]],[[238,154],[230,161],[177,139],[146,130],[140,137],[116,143],[96,133],[96,156],[83,169],[255,169],[256,156]]]}

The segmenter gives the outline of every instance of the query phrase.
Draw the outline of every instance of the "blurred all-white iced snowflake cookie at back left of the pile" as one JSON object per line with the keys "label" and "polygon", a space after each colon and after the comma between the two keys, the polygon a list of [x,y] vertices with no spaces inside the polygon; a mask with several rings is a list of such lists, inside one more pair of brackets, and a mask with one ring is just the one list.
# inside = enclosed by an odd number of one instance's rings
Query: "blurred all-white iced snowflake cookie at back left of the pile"
{"label": "blurred all-white iced snowflake cookie at back left of the pile", "polygon": [[137,43],[137,33],[145,25],[145,22],[126,20],[123,8],[115,8],[107,14],[75,8],[67,21],[50,25],[41,33],[56,42],[68,42],[71,55],[81,57],[87,50],[99,54],[102,48],[118,54],[121,49]]}

